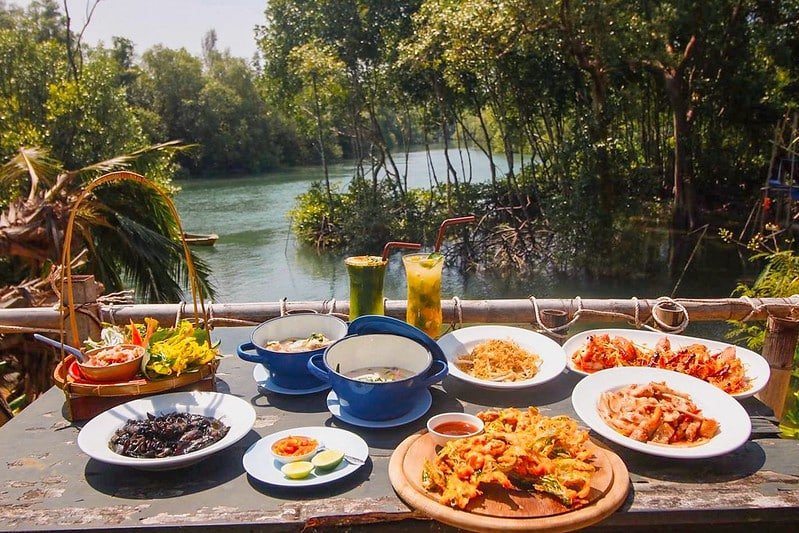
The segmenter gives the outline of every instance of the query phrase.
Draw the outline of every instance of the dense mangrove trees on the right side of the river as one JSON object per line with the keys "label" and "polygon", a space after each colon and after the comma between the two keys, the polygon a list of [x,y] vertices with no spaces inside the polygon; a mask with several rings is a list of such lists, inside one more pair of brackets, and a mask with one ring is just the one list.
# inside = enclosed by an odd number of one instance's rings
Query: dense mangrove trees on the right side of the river
{"label": "dense mangrove trees on the right side of the river", "polygon": [[[593,275],[625,266],[646,272],[656,268],[654,252],[640,254],[643,264],[635,265],[614,264],[606,253],[629,245],[635,224],[625,221],[663,217],[672,200],[675,211],[746,202],[762,181],[771,129],[797,79],[798,33],[786,29],[798,24],[796,2],[394,4],[394,23],[374,24],[376,6],[385,3],[277,0],[261,29],[265,80],[277,101],[307,109],[308,87],[321,72],[346,74],[322,92],[335,98],[317,120],[328,132],[323,144],[334,142],[331,131],[350,136],[354,155],[386,176],[363,187],[374,194],[383,188],[390,198],[380,202],[362,197],[354,182],[346,194],[364,202],[360,211],[320,198],[331,204],[324,225],[330,233],[382,220],[370,206],[394,213],[388,202],[404,204],[392,217],[430,212],[414,209],[390,158],[394,143],[414,132],[390,125],[413,117],[424,142],[441,140],[449,150],[457,139],[489,159],[508,159],[507,176],[493,161],[491,175],[481,176],[490,177],[490,187],[465,187],[465,176],[450,167],[438,176],[441,188],[429,192],[449,213],[471,208],[465,191],[477,194],[476,212],[526,240],[501,244],[509,251],[496,254],[495,234],[486,232],[483,257],[526,265],[511,258],[536,255],[555,269]],[[297,68],[298,57],[316,66]],[[369,177],[356,170],[356,178]],[[300,211],[309,211],[308,201]],[[518,216],[492,214],[503,209]],[[537,232],[554,239],[558,251],[544,250]]]}

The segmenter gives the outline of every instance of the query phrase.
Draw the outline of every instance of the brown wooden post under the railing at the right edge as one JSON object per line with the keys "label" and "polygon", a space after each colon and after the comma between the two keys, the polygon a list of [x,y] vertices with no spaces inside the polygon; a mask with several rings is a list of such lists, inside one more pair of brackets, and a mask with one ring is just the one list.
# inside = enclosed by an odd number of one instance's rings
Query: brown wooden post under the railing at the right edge
{"label": "brown wooden post under the railing at the right edge", "polygon": [[768,318],[766,339],[763,343],[763,357],[771,367],[771,377],[757,397],[771,407],[777,418],[782,417],[783,403],[791,380],[797,338],[799,338],[799,320],[774,316]]}

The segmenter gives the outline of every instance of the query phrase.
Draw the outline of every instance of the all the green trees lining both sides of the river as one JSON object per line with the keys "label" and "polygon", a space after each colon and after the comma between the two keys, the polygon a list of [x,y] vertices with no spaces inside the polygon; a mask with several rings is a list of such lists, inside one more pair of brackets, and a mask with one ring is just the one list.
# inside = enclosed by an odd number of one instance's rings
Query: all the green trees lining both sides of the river
{"label": "all the green trees lining both sides of the river", "polygon": [[[190,174],[352,157],[347,191],[300,198],[302,240],[372,249],[474,212],[467,260],[605,275],[625,266],[605,251],[629,245],[630,217],[745,204],[799,102],[795,0],[271,0],[265,15],[257,65],[211,31],[202,57],[84,46],[74,75],[56,2],[0,6],[0,156],[43,146],[76,168],[181,139]],[[414,142],[482,151],[488,184],[455,164],[408,190],[396,152]],[[653,268],[642,255],[627,268]]]}

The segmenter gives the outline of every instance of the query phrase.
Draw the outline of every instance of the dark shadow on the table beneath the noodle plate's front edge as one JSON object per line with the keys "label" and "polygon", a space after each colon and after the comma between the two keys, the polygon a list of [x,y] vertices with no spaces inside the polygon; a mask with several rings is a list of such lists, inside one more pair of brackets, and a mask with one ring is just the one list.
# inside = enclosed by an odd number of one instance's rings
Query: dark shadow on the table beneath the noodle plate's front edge
{"label": "dark shadow on the table beneath the noodle plate's front edge", "polygon": [[573,372],[564,372],[541,385],[516,390],[497,390],[479,387],[449,376],[444,380],[443,387],[447,394],[475,405],[527,407],[550,405],[565,400],[571,396],[574,386],[582,377]]}

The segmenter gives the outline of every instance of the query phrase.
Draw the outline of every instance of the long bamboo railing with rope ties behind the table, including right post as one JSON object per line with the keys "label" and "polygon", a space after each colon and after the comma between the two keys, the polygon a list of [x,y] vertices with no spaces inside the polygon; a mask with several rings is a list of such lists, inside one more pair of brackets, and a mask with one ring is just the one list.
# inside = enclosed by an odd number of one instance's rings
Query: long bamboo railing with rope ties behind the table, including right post
{"label": "long bamboo railing with rope ties behind the table, including right post", "polygon": [[[94,283],[93,280],[84,280]],[[386,300],[385,314],[405,318],[406,300]],[[187,304],[118,304],[87,302],[77,309],[80,321],[127,324],[152,317],[163,324],[186,316]],[[252,327],[286,313],[312,311],[347,315],[349,302],[288,301],[259,303],[206,304],[210,327]],[[582,299],[541,298],[442,301],[445,323],[460,324],[531,324],[555,338],[565,336],[569,326],[588,322],[628,323],[636,327],[679,333],[689,321],[768,321],[763,356],[771,365],[771,379],[759,395],[777,416],[788,388],[799,330],[799,295],[789,298],[720,298],[720,299]],[[0,309],[0,334],[50,332],[61,333],[59,309]]]}

